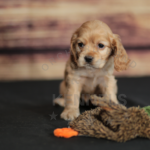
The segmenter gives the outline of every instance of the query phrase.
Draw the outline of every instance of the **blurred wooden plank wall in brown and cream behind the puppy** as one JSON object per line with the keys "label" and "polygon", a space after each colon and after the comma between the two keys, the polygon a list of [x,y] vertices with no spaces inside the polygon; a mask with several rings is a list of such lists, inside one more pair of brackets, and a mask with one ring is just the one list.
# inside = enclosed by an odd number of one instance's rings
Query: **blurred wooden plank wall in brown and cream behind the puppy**
{"label": "blurred wooden plank wall in brown and cream behind the puppy", "polygon": [[115,74],[150,75],[149,0],[0,0],[0,80],[62,78],[73,31],[94,19],[120,35],[133,61]]}

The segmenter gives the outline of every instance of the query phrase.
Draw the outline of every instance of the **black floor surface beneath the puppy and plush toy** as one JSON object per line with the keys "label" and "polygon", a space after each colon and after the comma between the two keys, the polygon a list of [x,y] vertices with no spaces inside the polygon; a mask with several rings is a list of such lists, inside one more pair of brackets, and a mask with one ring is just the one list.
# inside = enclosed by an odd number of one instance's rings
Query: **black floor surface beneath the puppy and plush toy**
{"label": "black floor surface beneath the puppy and plush toy", "polygon": [[[90,137],[56,138],[53,130],[67,127],[60,119],[63,108],[53,106],[60,81],[0,82],[1,150],[140,150],[150,140],[137,138],[126,143]],[[150,78],[119,78],[118,99],[129,106],[150,105]],[[88,107],[81,107],[81,112]],[[55,113],[56,120],[49,116]]]}

